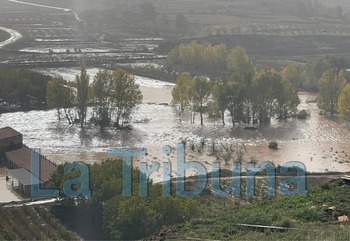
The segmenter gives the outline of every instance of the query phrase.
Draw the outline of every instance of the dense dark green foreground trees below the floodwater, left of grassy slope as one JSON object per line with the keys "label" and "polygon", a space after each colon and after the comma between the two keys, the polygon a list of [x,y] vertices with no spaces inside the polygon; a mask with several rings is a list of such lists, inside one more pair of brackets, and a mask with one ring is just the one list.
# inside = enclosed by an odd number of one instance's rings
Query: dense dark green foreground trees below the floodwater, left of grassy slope
{"label": "dense dark green foreground trees below the floodwater, left of grassy slope", "polygon": [[[69,206],[69,218],[75,218],[72,213],[79,213],[80,210],[86,214],[84,217],[88,217],[88,220],[81,221],[84,227],[89,224],[95,230],[102,229],[104,239],[138,240],[160,231],[164,225],[191,220],[199,213],[201,204],[198,201],[193,198],[163,197],[162,185],[152,184],[150,180],[147,181],[149,195],[140,197],[140,175],[144,174],[137,168],[132,168],[131,173],[132,196],[123,197],[124,168],[122,160],[109,159],[92,164],[92,196],[88,200],[64,201]],[[62,191],[64,181],[71,180],[76,174],[79,175],[73,172],[64,174],[64,166],[58,166],[51,178],[51,187]]]}

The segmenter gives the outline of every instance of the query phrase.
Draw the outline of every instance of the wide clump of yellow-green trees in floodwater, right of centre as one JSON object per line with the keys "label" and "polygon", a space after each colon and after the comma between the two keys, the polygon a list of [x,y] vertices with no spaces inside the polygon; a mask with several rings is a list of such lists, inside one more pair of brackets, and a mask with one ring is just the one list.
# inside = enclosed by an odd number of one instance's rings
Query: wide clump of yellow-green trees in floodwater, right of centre
{"label": "wide clump of yellow-green trees in floodwater, right of centre", "polygon": [[200,113],[218,113],[225,124],[229,111],[233,125],[270,123],[287,119],[296,112],[299,97],[287,78],[274,69],[256,68],[244,48],[237,46],[227,56],[227,71],[215,81],[181,74],[172,91],[173,105]]}

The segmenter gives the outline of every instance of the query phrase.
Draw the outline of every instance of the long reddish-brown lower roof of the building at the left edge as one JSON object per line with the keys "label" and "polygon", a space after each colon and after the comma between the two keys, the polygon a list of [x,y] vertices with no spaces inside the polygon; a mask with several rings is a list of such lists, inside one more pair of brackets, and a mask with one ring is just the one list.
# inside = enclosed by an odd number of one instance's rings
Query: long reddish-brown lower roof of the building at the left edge
{"label": "long reddish-brown lower roof of the building at the left edge", "polygon": [[[24,168],[32,173],[32,150],[23,145],[22,148],[6,152],[6,157],[20,168]],[[56,164],[40,155],[40,180],[49,181],[51,174],[57,169]]]}

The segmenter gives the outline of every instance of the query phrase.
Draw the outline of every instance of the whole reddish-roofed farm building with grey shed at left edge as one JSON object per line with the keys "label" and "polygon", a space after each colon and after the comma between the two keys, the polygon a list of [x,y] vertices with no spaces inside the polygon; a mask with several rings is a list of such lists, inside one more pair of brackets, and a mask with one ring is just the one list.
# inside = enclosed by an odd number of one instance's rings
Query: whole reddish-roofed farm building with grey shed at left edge
{"label": "whole reddish-roofed farm building with grey shed at left edge", "polygon": [[12,180],[18,181],[18,191],[25,196],[31,196],[33,180],[40,183],[42,188],[47,187],[52,173],[57,169],[55,163],[39,155],[39,175],[33,174],[33,150],[23,144],[23,135],[11,127],[0,129],[0,150],[4,155],[3,160],[12,168],[9,171]]}

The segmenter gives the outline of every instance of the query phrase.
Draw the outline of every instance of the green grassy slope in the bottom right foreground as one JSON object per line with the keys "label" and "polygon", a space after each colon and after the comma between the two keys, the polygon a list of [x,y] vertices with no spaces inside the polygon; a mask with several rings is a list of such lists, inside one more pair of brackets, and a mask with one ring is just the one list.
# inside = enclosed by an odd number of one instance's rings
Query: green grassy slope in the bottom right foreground
{"label": "green grassy slope in the bottom right foreground", "polygon": [[[307,197],[280,197],[251,205],[200,197],[200,218],[167,227],[153,238],[166,240],[349,240],[350,186],[341,181],[313,188]],[[292,228],[242,227],[240,224]]]}

